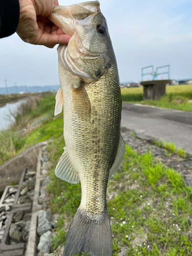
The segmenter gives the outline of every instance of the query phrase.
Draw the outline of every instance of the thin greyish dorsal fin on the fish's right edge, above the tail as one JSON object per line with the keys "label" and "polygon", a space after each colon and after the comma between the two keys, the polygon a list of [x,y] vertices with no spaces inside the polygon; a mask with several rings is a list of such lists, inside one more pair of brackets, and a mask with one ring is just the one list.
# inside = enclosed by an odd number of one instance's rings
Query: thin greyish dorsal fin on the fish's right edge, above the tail
{"label": "thin greyish dorsal fin on the fish's right edge, above the tail", "polygon": [[119,169],[119,167],[121,165],[121,162],[123,160],[124,153],[125,153],[124,141],[123,141],[123,138],[120,134],[117,155],[116,155],[115,161],[114,161],[114,163],[113,163],[113,165],[110,169],[109,179],[111,179],[117,173],[117,170]]}

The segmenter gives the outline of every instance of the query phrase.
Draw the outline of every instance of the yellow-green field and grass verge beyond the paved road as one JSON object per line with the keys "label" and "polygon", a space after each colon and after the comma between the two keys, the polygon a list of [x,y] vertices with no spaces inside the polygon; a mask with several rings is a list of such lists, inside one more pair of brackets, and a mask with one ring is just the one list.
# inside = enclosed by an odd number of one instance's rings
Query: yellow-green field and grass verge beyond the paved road
{"label": "yellow-green field and grass verge beyond the paved road", "polygon": [[166,96],[159,100],[143,100],[143,88],[121,89],[122,101],[154,105],[165,109],[192,111],[192,85],[167,86]]}

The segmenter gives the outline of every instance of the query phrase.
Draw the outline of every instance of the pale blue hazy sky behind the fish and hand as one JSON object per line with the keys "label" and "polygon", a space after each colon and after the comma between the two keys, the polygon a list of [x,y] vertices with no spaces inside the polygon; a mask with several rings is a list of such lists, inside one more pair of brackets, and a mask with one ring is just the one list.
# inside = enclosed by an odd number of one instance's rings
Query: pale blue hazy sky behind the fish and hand
{"label": "pale blue hazy sky behind the fish and hand", "polygon": [[[59,5],[81,1],[60,0]],[[191,0],[100,0],[121,82],[141,81],[141,68],[170,65],[171,79],[192,78]],[[146,70],[148,72],[150,70]],[[166,71],[166,69],[161,70]],[[160,75],[166,79],[167,75]],[[0,39],[0,87],[59,84],[57,46],[22,41],[17,34]],[[145,76],[144,80],[151,76]]]}

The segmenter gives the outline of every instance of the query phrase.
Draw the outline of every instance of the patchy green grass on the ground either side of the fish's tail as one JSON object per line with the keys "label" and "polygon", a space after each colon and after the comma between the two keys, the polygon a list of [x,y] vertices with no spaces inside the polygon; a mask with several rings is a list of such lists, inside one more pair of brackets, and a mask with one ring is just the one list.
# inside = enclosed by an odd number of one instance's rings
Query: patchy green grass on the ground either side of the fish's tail
{"label": "patchy green grass on the ground either side of the fish's tail", "polygon": [[[56,140],[57,144],[59,140]],[[69,224],[80,204],[80,184],[59,180],[54,169],[62,154],[58,146],[49,151],[54,162],[47,193],[53,213],[59,213],[59,227],[52,248],[64,245]],[[181,175],[156,162],[151,152],[137,155],[129,145],[123,167],[109,181],[108,212],[113,234],[113,255],[122,247],[126,255],[191,255],[189,239],[192,188]],[[82,253],[82,255],[85,255]]]}

